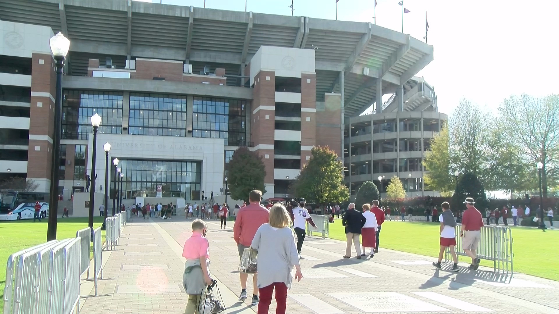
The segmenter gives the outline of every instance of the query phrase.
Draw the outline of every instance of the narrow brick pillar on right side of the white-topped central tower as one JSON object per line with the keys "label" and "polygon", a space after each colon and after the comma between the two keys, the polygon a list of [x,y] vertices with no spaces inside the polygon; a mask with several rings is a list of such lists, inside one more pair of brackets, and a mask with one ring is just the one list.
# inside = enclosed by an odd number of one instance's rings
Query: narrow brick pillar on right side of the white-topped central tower
{"label": "narrow brick pillar on right side of the white-topped central tower", "polygon": [[301,74],[301,168],[316,145],[316,75]]}

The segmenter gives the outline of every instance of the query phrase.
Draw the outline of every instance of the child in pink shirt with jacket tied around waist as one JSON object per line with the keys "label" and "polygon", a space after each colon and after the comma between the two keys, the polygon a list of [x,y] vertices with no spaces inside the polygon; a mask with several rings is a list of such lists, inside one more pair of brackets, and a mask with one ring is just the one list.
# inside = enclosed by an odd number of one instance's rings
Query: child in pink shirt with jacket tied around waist
{"label": "child in pink shirt with jacket tied around waist", "polygon": [[188,293],[184,314],[198,313],[203,289],[212,283],[210,277],[210,242],[206,239],[207,226],[203,220],[192,222],[192,236],[184,242],[182,256],[186,258],[182,284]]}

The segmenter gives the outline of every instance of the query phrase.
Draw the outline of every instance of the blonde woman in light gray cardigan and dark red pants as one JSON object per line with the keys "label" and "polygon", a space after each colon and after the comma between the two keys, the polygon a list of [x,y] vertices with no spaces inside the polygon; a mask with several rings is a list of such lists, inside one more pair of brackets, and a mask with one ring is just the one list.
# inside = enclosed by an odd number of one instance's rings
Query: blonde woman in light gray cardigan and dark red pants
{"label": "blonde woman in light gray cardigan and dark red pants", "polygon": [[286,208],[281,204],[275,204],[270,209],[269,221],[258,228],[250,245],[250,248],[258,251],[257,284],[260,291],[258,314],[268,313],[274,288],[276,288],[276,314],[285,314],[287,289],[291,288],[293,266],[296,268],[295,279],[298,282],[303,275],[295,237],[289,228],[291,218]]}

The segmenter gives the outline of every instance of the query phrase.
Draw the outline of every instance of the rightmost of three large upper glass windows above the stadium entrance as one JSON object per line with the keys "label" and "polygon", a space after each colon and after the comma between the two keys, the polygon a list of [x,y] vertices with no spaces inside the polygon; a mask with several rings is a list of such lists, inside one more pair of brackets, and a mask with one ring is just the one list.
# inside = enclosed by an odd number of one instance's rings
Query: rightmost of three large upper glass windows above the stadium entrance
{"label": "rightmost of three large upper glass windows above the stadium entrance", "polygon": [[192,114],[192,137],[225,139],[225,145],[246,145],[246,101],[194,97]]}

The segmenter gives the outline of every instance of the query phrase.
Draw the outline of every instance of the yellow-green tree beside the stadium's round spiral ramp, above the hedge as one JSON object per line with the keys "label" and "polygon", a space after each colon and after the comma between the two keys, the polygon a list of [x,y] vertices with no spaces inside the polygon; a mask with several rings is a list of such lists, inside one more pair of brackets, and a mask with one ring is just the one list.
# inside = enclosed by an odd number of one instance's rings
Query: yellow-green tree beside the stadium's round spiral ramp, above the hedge
{"label": "yellow-green tree beside the stadium's round spiral ramp, above the hedge", "polygon": [[423,165],[428,172],[424,174],[425,184],[434,191],[448,193],[453,191],[454,182],[450,175],[451,160],[448,149],[448,127],[444,126],[431,141],[431,150],[425,152]]}

